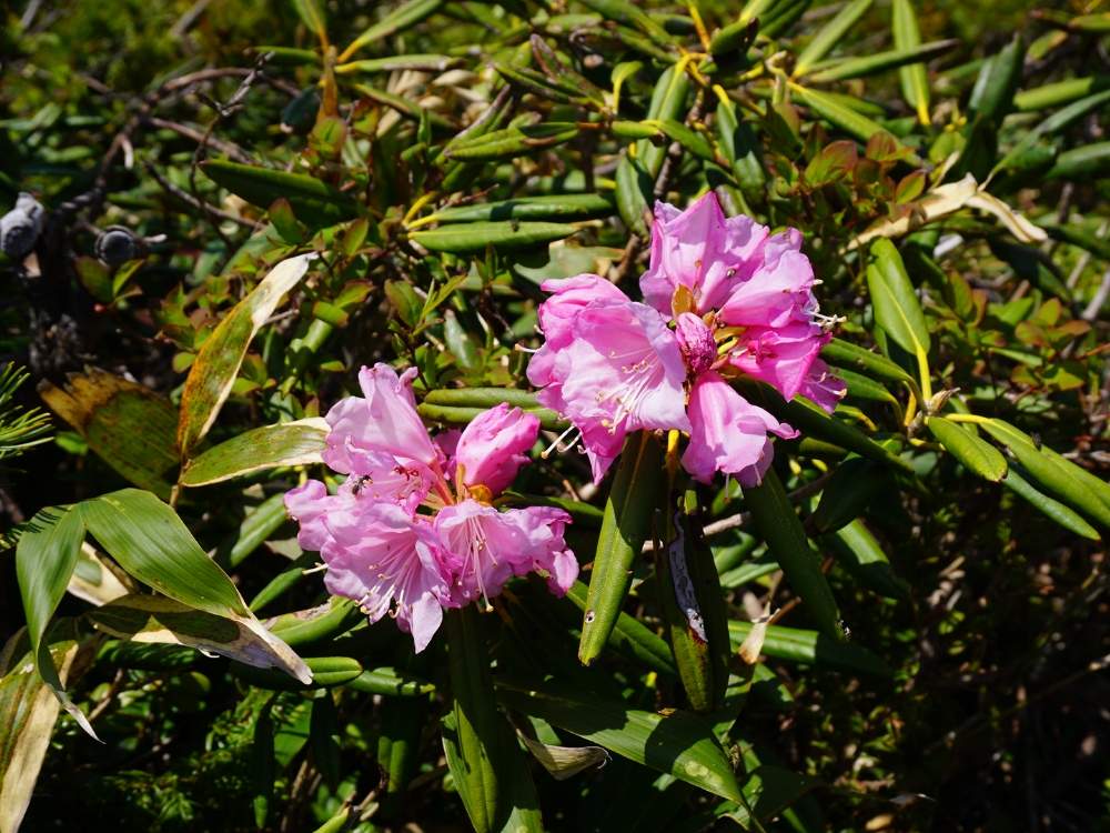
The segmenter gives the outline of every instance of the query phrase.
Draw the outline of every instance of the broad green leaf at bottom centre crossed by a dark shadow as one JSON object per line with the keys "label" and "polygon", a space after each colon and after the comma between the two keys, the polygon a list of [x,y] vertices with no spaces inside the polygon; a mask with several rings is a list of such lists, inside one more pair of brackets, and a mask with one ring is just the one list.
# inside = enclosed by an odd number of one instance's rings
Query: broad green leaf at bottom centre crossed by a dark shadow
{"label": "broad green leaf at bottom centre crossed by a dark shadow", "polygon": [[629,709],[620,701],[551,682],[543,688],[498,682],[497,694],[509,709],[714,795],[739,800],[728,757],[709,724],[695,714]]}

